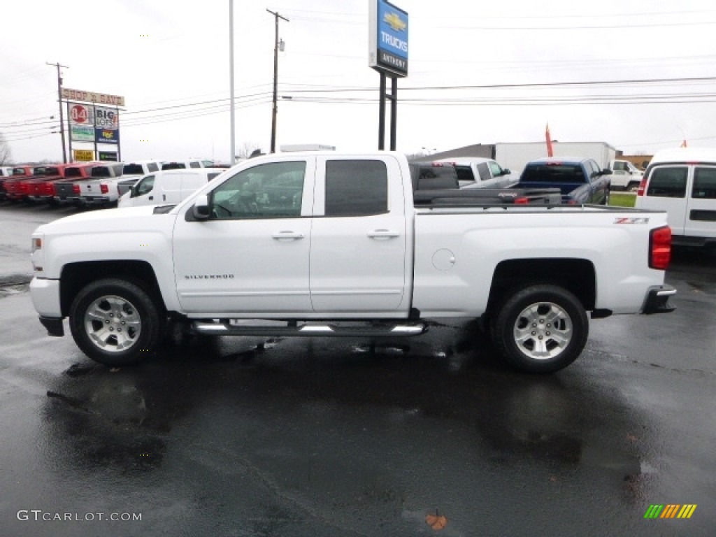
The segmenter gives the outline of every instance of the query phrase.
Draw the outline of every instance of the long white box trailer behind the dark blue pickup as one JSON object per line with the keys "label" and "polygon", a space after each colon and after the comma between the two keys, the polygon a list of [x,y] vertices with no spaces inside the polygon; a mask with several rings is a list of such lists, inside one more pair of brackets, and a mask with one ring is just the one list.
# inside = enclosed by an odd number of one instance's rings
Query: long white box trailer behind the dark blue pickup
{"label": "long white box trailer behind the dark blue pickup", "polygon": [[[555,157],[593,158],[600,168],[609,168],[609,161],[616,158],[616,149],[606,142],[552,142]],[[514,173],[522,173],[530,160],[547,156],[547,143],[497,143],[495,160]]]}

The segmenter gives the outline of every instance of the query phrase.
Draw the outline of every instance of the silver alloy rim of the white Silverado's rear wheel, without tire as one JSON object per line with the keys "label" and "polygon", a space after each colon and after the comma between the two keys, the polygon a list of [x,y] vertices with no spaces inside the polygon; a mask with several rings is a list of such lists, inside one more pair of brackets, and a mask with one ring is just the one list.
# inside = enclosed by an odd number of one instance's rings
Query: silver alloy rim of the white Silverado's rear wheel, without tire
{"label": "silver alloy rim of the white Silverado's rear wheel, without tire", "polygon": [[513,327],[517,348],[534,360],[557,357],[573,336],[569,314],[552,302],[537,302],[521,311]]}

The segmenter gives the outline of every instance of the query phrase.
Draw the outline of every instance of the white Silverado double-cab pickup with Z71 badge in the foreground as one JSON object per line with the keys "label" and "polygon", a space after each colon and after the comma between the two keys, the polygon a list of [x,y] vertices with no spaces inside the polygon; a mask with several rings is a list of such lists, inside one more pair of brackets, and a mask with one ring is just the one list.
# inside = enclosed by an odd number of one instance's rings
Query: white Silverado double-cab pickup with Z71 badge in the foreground
{"label": "white Silverado double-cab pickup with Z71 badge in the foreground", "polygon": [[[170,319],[215,335],[400,337],[481,318],[513,367],[552,372],[592,318],[672,311],[666,213],[413,200],[405,155],[281,153],[178,205],[92,211],[32,235],[32,301],[97,362],[150,356]],[[249,319],[251,319],[249,321]]]}

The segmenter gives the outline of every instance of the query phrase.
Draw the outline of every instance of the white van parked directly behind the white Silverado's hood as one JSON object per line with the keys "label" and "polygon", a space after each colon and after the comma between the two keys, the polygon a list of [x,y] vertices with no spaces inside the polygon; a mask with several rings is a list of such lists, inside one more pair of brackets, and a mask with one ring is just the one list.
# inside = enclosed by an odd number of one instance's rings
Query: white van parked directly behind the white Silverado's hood
{"label": "white van parked directly behind the white Silverado's hood", "polygon": [[226,168],[180,168],[150,173],[122,195],[117,207],[179,203],[194,190],[225,171]]}

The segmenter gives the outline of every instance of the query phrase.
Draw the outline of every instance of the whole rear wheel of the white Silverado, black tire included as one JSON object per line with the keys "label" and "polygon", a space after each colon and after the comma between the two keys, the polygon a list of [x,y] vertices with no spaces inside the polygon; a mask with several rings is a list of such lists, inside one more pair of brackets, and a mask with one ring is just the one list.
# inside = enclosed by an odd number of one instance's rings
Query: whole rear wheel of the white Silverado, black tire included
{"label": "whole rear wheel of the white Silverado, black tire included", "polygon": [[505,296],[491,332],[495,347],[511,367],[551,373],[579,357],[589,336],[589,319],[574,294],[539,284]]}

